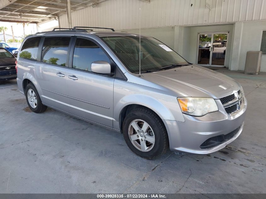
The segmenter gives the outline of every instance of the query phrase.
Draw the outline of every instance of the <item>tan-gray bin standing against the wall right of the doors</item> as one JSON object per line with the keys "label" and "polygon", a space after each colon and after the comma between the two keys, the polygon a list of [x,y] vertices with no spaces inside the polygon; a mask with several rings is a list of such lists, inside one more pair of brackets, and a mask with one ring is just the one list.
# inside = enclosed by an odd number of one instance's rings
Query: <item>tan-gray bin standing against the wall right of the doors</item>
{"label": "tan-gray bin standing against the wall right of the doors", "polygon": [[246,52],[245,74],[258,75],[261,65],[262,51]]}

